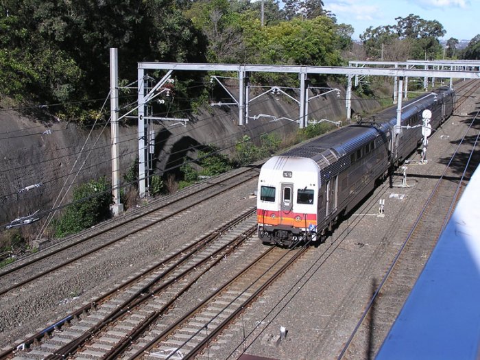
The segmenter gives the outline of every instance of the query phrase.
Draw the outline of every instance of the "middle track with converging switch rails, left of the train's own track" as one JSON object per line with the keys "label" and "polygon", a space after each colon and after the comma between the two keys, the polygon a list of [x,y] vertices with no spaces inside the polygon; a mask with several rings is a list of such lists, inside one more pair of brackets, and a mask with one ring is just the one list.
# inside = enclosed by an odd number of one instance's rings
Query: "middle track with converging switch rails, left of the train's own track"
{"label": "middle track with converging switch rails, left of the train's own track", "polygon": [[[224,259],[224,256],[228,256],[251,235],[255,225],[254,215],[254,209],[250,209],[202,239],[192,241],[181,250],[150,265],[140,274],[132,276],[125,283],[108,289],[102,296],[56,324],[25,339],[20,346],[6,350],[0,355],[0,359],[7,359],[12,355],[31,356],[32,359],[68,356],[86,341],[93,344],[93,337],[97,338],[107,327],[117,325],[125,332],[125,322],[130,320],[130,326],[132,318],[141,322],[145,312],[151,313],[151,309],[160,309],[157,316],[162,315],[204,272]],[[160,296],[160,293],[163,295]],[[134,315],[132,311],[139,307],[141,309]],[[143,315],[138,315],[139,313]],[[126,314],[128,320],[124,318]],[[47,339],[48,337],[51,338]],[[34,346],[39,341],[40,346]],[[29,349],[31,346],[34,347]],[[22,348],[24,350],[19,351]]]}

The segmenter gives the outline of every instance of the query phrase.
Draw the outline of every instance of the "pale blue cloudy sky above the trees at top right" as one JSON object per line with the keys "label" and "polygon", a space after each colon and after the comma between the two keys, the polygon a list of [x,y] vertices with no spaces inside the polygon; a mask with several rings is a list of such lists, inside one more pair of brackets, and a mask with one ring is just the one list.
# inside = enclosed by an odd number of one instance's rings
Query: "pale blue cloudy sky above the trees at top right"
{"label": "pale blue cloudy sky above the trees at top right", "polygon": [[324,10],[337,17],[337,23],[355,29],[359,39],[368,27],[396,25],[396,17],[418,15],[437,20],[446,30],[444,40],[471,40],[480,34],[480,0],[323,0]]}

